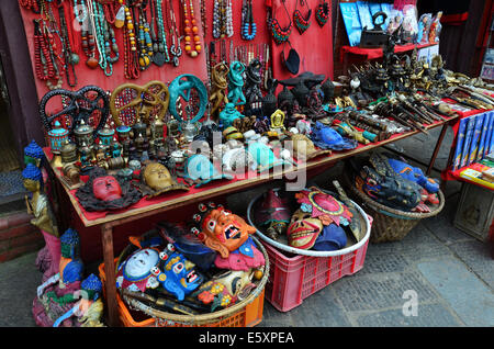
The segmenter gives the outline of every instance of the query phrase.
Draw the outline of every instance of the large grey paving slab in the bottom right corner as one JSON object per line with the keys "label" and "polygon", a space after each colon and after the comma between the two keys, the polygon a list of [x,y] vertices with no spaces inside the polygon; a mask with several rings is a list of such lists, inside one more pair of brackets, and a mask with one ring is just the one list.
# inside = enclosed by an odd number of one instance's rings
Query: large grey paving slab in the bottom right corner
{"label": "large grey paving slab in the bottom right corner", "polygon": [[494,293],[461,261],[420,262],[418,270],[467,326],[494,326]]}

